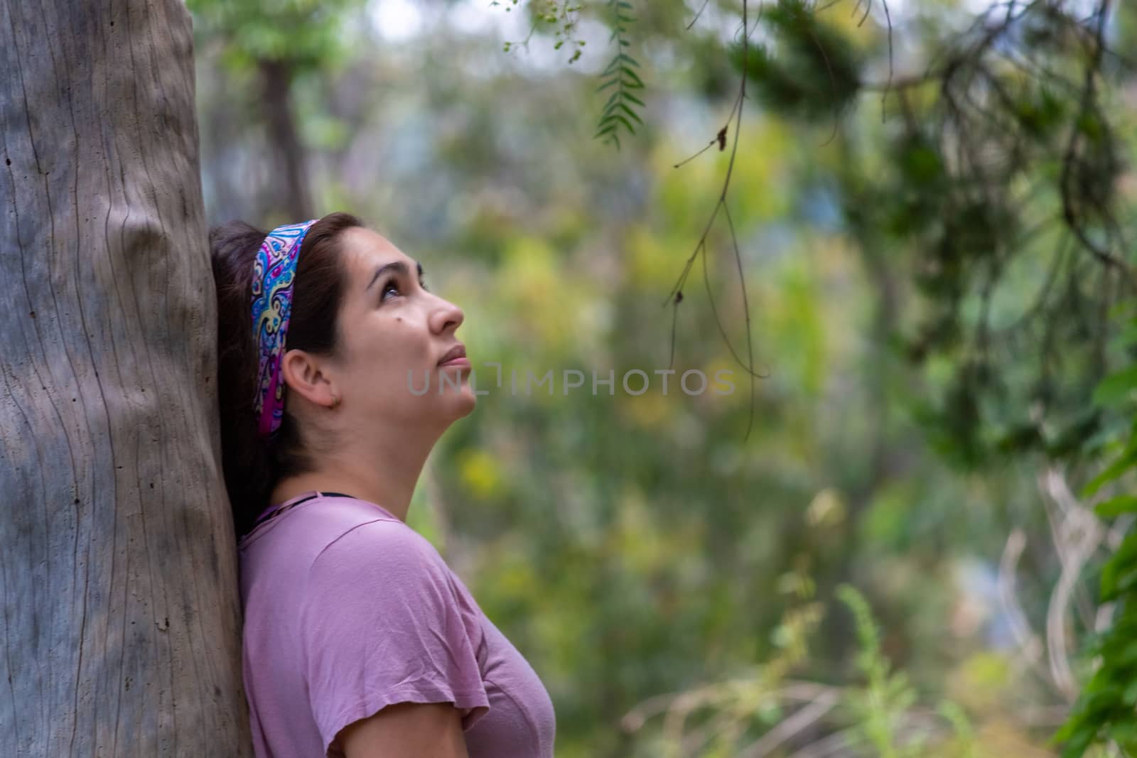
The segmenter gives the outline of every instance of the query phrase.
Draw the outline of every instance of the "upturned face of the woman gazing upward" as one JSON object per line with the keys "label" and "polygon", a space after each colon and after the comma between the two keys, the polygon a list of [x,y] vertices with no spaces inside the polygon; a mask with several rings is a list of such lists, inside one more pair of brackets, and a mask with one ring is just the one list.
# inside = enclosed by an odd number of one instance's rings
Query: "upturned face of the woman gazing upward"
{"label": "upturned face of the woman gazing upward", "polygon": [[462,309],[424,289],[418,263],[382,235],[352,227],[341,241],[347,288],[330,361],[340,411],[363,424],[425,428],[467,415],[476,403],[470,361],[439,365],[462,345]]}

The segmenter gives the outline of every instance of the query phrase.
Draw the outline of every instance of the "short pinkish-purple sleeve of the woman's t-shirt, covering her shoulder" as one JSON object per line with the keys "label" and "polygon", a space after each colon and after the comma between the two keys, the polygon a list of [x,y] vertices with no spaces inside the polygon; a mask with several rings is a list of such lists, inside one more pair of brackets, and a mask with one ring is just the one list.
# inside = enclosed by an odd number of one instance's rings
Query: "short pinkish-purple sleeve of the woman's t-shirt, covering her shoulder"
{"label": "short pinkish-purple sleeve of the woman's t-shirt, covering her shoulder", "polygon": [[300,606],[301,659],[325,752],[397,702],[453,702],[463,730],[489,710],[475,630],[441,556],[401,523],[348,531],[319,553]]}

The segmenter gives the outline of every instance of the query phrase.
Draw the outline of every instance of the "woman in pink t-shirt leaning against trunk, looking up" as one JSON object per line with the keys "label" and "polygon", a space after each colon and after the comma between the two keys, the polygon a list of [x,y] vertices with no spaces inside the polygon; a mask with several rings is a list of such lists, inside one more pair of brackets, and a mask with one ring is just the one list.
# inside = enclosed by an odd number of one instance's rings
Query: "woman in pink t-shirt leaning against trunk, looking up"
{"label": "woman in pink t-shirt leaning against trunk, looking up", "polygon": [[541,681],[405,523],[474,408],[462,310],[347,214],[209,238],[256,755],[551,756]]}

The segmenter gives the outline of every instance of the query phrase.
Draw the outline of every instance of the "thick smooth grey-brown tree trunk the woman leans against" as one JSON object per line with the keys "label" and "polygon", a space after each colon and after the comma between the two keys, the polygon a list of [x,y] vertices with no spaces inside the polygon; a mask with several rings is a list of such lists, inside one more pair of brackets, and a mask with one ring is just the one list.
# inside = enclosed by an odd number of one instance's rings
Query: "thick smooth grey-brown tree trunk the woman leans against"
{"label": "thick smooth grey-brown tree trunk the woman leans against", "polygon": [[248,756],[179,0],[0,0],[0,745]]}

